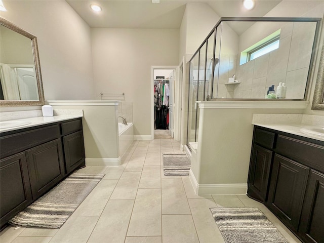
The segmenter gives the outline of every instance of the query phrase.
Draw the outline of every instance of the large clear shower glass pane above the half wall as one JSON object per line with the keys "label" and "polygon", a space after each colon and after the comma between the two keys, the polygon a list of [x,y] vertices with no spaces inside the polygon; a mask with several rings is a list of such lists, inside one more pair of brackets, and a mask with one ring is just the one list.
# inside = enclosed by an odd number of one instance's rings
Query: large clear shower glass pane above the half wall
{"label": "large clear shower glass pane above the half wall", "polygon": [[305,99],[316,28],[317,21],[221,22],[212,98]]}

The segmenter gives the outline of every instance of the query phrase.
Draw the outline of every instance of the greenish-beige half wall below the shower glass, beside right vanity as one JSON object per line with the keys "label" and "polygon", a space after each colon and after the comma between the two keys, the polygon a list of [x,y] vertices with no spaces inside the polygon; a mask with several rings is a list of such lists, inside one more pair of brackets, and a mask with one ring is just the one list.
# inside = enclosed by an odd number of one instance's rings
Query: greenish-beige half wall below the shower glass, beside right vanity
{"label": "greenish-beige half wall below the shower glass, beside right vanity", "polygon": [[[247,183],[254,113],[302,113],[302,109],[200,109],[199,184]],[[193,162],[192,162],[193,163]]]}

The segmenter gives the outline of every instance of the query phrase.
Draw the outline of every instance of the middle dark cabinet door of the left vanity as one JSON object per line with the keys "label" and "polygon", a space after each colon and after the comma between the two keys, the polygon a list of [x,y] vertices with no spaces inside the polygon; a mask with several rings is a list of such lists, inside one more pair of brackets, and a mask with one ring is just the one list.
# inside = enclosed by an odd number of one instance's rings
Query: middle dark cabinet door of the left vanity
{"label": "middle dark cabinet door of the left vanity", "polygon": [[31,191],[34,199],[42,196],[64,176],[60,139],[26,150]]}

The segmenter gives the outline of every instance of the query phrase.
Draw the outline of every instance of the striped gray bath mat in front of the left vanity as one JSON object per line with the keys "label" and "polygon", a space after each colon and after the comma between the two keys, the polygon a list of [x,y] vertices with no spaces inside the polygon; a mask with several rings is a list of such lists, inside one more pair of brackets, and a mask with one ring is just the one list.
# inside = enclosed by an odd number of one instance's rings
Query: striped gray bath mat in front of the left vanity
{"label": "striped gray bath mat in front of the left vanity", "polygon": [[104,175],[73,173],[19,212],[9,223],[15,226],[60,228]]}

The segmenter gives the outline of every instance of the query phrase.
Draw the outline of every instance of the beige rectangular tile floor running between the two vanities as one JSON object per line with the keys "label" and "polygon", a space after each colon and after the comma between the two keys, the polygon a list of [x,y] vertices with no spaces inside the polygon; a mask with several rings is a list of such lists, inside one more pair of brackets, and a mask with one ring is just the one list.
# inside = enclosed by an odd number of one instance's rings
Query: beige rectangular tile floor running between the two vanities
{"label": "beige rectangular tile floor running between the two vanities", "polygon": [[[7,227],[1,243],[222,243],[210,207],[259,207],[290,243],[300,241],[246,195],[195,195],[188,176],[164,176],[161,154],[173,139],[135,141],[118,167],[79,170],[105,177],[60,229]],[[233,242],[234,243],[234,242]]]}

